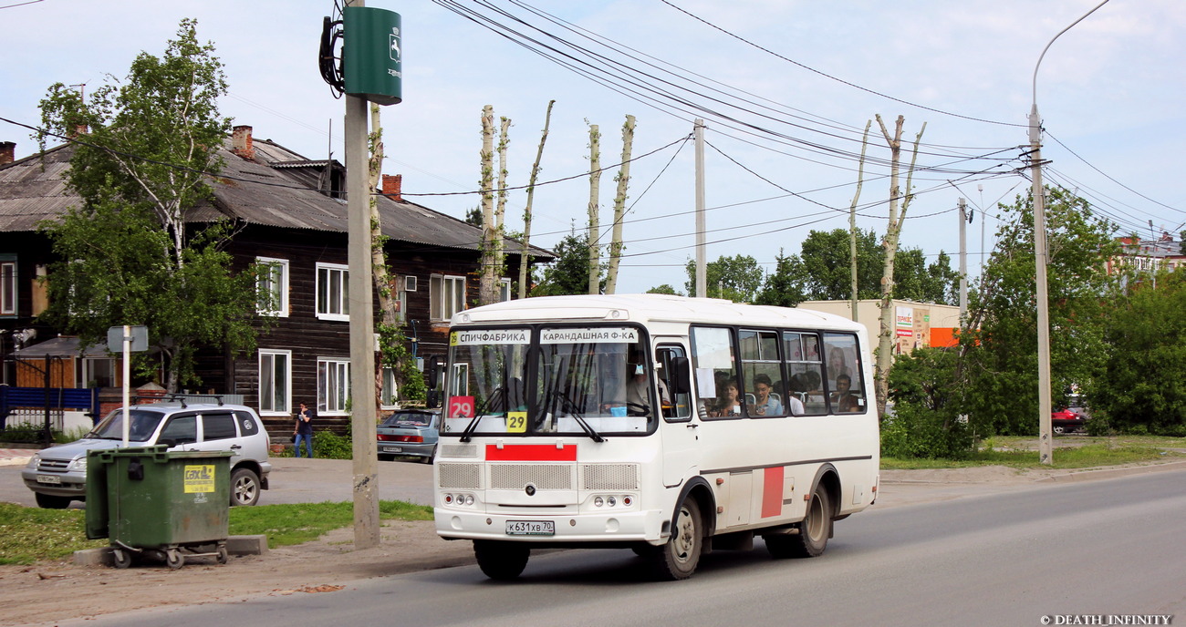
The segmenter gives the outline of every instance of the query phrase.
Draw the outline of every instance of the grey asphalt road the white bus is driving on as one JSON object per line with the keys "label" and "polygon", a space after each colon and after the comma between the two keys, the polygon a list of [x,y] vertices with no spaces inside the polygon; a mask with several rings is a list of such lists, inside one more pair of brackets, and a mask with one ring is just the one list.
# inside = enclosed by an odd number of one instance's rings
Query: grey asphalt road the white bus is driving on
{"label": "grey asphalt road the white bus is driving on", "polygon": [[[706,556],[684,582],[648,581],[629,550],[559,551],[533,556],[512,583],[461,567],[358,581],[333,594],[59,625],[1152,623],[1118,622],[1131,615],[1177,615],[1180,622],[1184,482],[1186,472],[1167,471],[872,508],[837,523],[820,558],[773,561],[758,540],[753,551]],[[1070,622],[1075,616],[1079,622]]]}

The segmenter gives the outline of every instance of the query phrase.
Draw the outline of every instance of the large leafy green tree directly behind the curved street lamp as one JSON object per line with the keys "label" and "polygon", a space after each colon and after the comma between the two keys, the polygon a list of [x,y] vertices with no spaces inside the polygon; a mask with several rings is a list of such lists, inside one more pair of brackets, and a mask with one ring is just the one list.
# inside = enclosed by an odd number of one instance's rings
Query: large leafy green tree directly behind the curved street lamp
{"label": "large leafy green tree directly behind the curved street lamp", "polygon": [[[1115,296],[1107,261],[1117,251],[1114,226],[1096,218],[1085,200],[1051,190],[1046,206],[1050,258],[1051,380],[1056,391],[1101,380],[1111,346],[1104,330]],[[1002,205],[997,249],[969,295],[969,331],[961,385],[976,433],[1038,431],[1037,299],[1033,206],[1029,198]],[[1060,397],[1054,404],[1065,404]]]}

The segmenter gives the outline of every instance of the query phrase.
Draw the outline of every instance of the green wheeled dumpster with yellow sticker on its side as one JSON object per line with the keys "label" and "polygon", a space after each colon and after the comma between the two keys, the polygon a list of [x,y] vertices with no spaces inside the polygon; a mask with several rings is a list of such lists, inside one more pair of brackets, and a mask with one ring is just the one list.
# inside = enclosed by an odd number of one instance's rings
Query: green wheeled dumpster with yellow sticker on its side
{"label": "green wheeled dumpster with yellow sticker on its side", "polygon": [[116,568],[140,555],[173,569],[187,556],[227,563],[230,456],[165,446],[90,452],[87,537],[110,538]]}

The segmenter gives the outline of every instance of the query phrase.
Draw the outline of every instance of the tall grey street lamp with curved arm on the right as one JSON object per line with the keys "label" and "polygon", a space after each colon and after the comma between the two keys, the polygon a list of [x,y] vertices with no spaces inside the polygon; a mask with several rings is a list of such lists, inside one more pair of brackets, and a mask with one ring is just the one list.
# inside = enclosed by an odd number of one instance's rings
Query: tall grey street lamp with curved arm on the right
{"label": "tall grey street lamp with curved arm on the right", "polygon": [[1071,23],[1071,26],[1063,28],[1053,39],[1046,44],[1038,63],[1034,64],[1033,77],[1033,105],[1029,108],[1029,168],[1033,172],[1033,201],[1034,201],[1034,275],[1037,281],[1038,300],[1038,458],[1041,463],[1054,463],[1054,434],[1051,426],[1051,399],[1050,399],[1050,296],[1046,287],[1046,190],[1041,183],[1041,117],[1038,115],[1038,66],[1041,65],[1046,51],[1066,31],[1083,21],[1097,8],[1108,4],[1108,0],[1099,2],[1082,18]]}

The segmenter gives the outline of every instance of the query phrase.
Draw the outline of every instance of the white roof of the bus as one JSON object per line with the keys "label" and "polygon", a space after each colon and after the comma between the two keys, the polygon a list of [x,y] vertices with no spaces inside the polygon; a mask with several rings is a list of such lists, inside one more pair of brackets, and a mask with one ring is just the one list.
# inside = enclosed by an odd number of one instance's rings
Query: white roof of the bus
{"label": "white roof of the bus", "polygon": [[823,312],[668,294],[537,296],[474,307],[458,312],[452,319],[454,326],[540,321],[663,321],[865,331],[847,318]]}

